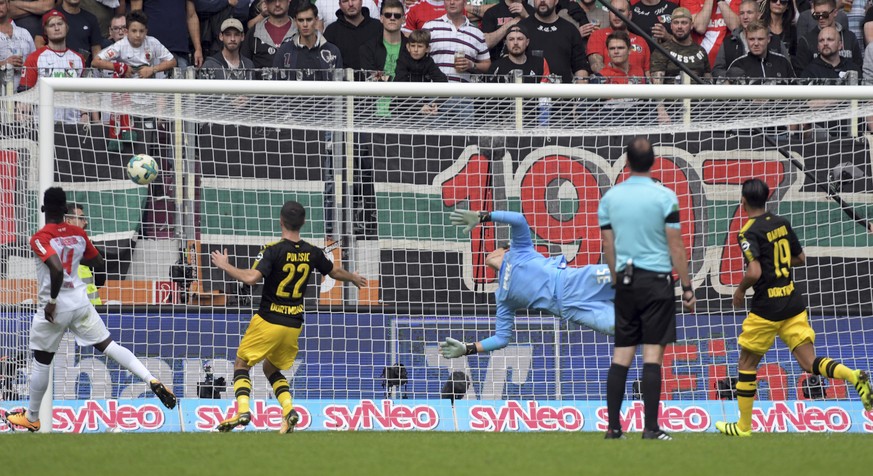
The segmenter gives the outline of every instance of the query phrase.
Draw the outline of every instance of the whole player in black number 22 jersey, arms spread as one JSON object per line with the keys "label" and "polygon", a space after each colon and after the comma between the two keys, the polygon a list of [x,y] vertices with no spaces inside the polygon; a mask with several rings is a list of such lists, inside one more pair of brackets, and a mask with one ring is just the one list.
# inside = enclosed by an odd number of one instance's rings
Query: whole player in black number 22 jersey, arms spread
{"label": "whole player in black number 22 jersey, arms spread", "polygon": [[227,432],[251,421],[249,395],[252,381],[249,370],[264,362],[264,375],[282,405],[282,428],[279,433],[294,431],[300,416],[291,404],[291,392],[282,370],[291,368],[297,357],[297,339],[303,329],[303,296],[312,270],[345,281],[357,287],[367,280],[330,262],[320,248],[300,239],[300,228],[306,222],[303,205],[289,201],[282,206],[279,222],[282,239],[265,246],[251,269],[240,269],[228,262],[227,250],[212,252],[212,264],[232,278],[253,286],[264,280],[264,291],[258,312],[240,341],[233,371],[233,391],[237,401],[236,416],[218,424],[218,431]]}

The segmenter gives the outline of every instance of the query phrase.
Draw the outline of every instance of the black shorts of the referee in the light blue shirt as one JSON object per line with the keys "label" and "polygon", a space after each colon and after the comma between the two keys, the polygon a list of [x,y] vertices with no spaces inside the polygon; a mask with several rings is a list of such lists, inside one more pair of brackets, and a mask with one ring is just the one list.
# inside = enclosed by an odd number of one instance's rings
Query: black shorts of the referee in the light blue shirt
{"label": "black shorts of the referee in the light blue shirt", "polygon": [[615,346],[676,341],[676,294],[671,273],[636,268],[630,285],[615,285]]}

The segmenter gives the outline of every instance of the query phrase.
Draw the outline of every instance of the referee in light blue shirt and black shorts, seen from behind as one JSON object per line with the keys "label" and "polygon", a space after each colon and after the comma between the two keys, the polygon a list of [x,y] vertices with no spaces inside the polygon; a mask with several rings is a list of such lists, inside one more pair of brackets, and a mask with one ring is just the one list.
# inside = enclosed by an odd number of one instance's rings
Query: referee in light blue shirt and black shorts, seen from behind
{"label": "referee in light blue shirt and black shorts, seen from behind", "polygon": [[672,440],[658,427],[664,346],[676,340],[673,268],[682,283],[682,304],[694,310],[694,291],[679,228],[679,200],[652,180],[655,153],[644,137],[626,149],[630,177],[603,195],[597,218],[603,253],[615,285],[615,351],[606,379],[607,439],[624,439],[621,403],[627,371],[643,345],[643,439]]}

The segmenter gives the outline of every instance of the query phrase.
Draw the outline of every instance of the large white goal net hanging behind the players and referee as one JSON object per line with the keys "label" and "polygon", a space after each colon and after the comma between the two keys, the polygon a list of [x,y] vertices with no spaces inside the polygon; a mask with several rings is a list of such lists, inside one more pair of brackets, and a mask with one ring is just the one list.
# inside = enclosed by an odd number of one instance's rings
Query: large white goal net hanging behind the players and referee
{"label": "large white goal net hanging behind the players and referee", "polygon": [[[303,238],[369,280],[358,290],[316,275],[309,288],[286,372],[304,428],[602,431],[607,336],[520,311],[508,347],[439,356],[446,337],[494,332],[496,276],[484,257],[509,238],[495,224],[463,233],[448,214],[522,212],[538,251],[570,266],[600,263],[597,205],[627,177],[624,146],[635,135],[655,144],[653,175],[679,197],[698,298],[666,350],[662,428],[713,431],[736,416],[745,311],[731,296],[743,273],[740,184],[750,177],[769,184],[768,208],[804,246],[794,278],[818,353],[873,369],[867,87],[839,96],[837,86],[46,84],[56,110],[91,120],[46,120],[40,90],[0,102],[0,408],[26,400],[28,238],[52,184],[83,205],[107,259],[94,274],[113,338],[181,397],[178,412],[166,411],[144,383],[65,339],[54,361],[56,430],[201,431],[232,414],[233,361],[260,288],[240,285],[209,254],[227,249],[233,264],[251,266],[280,236],[281,205],[296,200],[307,209]],[[145,187],[126,175],[139,153],[161,170]],[[624,406],[631,430],[642,427],[639,369],[638,357]],[[758,376],[756,429],[864,431],[854,389],[805,373],[783,343]],[[251,427],[278,428],[260,366],[252,379]],[[125,405],[138,416],[119,416]],[[96,416],[76,423],[85,414]]]}

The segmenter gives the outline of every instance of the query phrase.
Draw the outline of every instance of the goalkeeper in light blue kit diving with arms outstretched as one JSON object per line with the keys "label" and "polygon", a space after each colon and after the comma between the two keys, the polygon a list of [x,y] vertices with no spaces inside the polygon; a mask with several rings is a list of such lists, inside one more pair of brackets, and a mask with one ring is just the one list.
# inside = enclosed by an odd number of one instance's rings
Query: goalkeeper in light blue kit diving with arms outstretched
{"label": "goalkeeper in light blue kit diving with arms outstretched", "polygon": [[478,223],[507,223],[511,226],[511,240],[509,246],[498,248],[485,258],[485,265],[498,272],[497,332],[473,344],[447,337],[439,344],[443,357],[454,359],[506,347],[519,309],[545,311],[613,335],[615,291],[605,264],[568,268],[563,256],[546,258],[539,254],[521,213],[455,210],[449,217],[452,224],[466,226],[464,231],[468,233]]}

